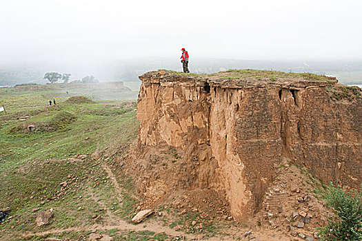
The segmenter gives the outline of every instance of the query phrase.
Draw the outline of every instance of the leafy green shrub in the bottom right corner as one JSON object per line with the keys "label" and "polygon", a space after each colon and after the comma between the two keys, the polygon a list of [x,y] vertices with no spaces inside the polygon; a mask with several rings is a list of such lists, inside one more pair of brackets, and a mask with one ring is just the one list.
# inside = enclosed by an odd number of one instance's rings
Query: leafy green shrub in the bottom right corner
{"label": "leafy green shrub in the bottom right corner", "polygon": [[328,225],[321,228],[319,234],[323,240],[362,240],[362,192],[347,191],[331,183],[324,198],[336,217],[330,218]]}

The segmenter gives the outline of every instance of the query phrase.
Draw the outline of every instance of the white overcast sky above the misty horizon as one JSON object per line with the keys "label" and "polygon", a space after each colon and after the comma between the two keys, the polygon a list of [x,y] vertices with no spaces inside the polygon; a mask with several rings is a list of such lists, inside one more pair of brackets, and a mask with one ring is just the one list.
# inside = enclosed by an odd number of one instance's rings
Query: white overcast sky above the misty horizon
{"label": "white overcast sky above the misty horizon", "polygon": [[361,0],[0,1],[0,61],[362,59]]}

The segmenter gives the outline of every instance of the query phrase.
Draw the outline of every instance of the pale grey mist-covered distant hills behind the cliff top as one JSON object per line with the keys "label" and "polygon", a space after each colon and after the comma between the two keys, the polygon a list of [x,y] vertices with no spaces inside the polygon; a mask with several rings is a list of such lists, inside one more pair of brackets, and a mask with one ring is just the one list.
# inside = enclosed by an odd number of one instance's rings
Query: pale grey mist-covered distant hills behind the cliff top
{"label": "pale grey mist-covered distant hills behind the cliff top", "polygon": [[[193,73],[210,74],[229,69],[280,70],[312,72],[339,77],[341,83],[362,83],[362,61],[272,61],[238,59],[190,59]],[[46,72],[70,73],[70,81],[94,75],[101,82],[138,81],[138,76],[152,70],[181,71],[179,59],[126,59],[121,61],[34,61],[0,63],[0,85],[46,83]]]}

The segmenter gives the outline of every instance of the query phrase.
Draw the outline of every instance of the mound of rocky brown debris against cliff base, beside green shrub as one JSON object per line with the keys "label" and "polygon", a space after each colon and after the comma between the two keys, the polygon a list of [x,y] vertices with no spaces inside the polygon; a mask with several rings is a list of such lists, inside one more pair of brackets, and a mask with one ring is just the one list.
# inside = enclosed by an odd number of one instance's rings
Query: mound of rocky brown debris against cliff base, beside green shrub
{"label": "mound of rocky brown debris against cliff base, beside green shrub", "polygon": [[287,160],[283,160],[277,168],[274,182],[265,192],[257,217],[263,228],[272,225],[272,228],[279,227],[283,233],[293,237],[304,235],[312,238],[316,228],[325,226],[330,216],[325,203],[312,192],[321,183],[305,174],[305,170],[285,164]]}

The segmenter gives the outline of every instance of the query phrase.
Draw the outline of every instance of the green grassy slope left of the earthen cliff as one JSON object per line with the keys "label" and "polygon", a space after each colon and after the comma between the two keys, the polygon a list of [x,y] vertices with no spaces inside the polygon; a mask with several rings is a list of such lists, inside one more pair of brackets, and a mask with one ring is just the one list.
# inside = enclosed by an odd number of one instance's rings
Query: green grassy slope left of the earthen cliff
{"label": "green grassy slope left of the earthen cliff", "polygon": [[[57,90],[1,91],[0,103],[8,114],[0,112],[0,209],[12,209],[12,218],[0,224],[6,240],[23,240],[27,232],[90,226],[96,222],[94,214],[112,220],[134,213],[137,200],[126,195],[132,189],[128,178],[118,177],[125,190],[121,205],[109,174],[101,167],[114,163],[116,153],[127,150],[137,137],[134,101],[68,103],[59,98],[57,106],[49,107],[44,102]],[[65,114],[74,118],[69,121]],[[18,121],[24,116],[30,118]],[[24,130],[27,125],[37,130]],[[54,128],[41,129],[41,125]],[[94,159],[94,153],[101,153],[101,158]],[[64,181],[66,187],[59,185]],[[54,208],[51,224],[37,227],[37,213],[50,208]]]}

